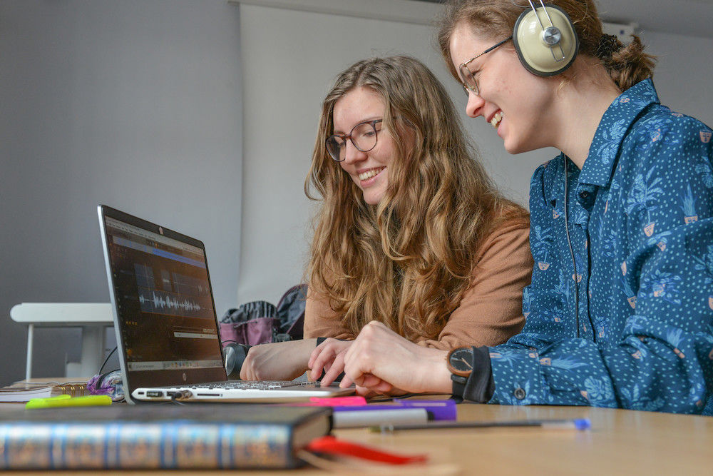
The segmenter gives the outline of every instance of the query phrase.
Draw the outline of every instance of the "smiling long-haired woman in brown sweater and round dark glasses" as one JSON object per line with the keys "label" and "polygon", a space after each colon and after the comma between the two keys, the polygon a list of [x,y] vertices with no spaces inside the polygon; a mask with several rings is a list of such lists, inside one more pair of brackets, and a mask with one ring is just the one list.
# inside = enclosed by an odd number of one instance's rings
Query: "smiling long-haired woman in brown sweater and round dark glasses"
{"label": "smiling long-haired woman in brown sweater and round dark glasses", "polygon": [[[359,61],[322,105],[305,191],[321,207],[304,340],[253,347],[241,378],[342,372],[379,321],[426,349],[505,342],[523,326],[528,216],[494,188],[445,88],[415,59]],[[320,343],[317,338],[331,338]]]}

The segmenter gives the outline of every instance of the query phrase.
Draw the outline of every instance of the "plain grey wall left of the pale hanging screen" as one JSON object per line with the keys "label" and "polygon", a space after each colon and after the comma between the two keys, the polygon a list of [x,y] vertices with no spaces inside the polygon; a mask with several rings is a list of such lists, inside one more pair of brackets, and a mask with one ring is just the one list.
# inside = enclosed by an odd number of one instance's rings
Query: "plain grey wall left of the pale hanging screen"
{"label": "plain grey wall left of the pale hanging screen", "polygon": [[[225,0],[0,2],[0,384],[24,377],[14,304],[108,302],[98,203],[202,238],[235,305],[239,28]],[[34,375],[78,336],[36,331]]]}

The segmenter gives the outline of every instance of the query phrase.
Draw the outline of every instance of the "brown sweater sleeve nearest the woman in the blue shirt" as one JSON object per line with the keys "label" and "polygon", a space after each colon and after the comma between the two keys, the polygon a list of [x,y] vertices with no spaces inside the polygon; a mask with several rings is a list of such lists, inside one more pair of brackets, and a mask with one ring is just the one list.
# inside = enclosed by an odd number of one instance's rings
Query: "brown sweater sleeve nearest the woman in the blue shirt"
{"label": "brown sweater sleeve nearest the woman in the blue shirt", "polygon": [[530,284],[529,220],[506,221],[481,245],[471,287],[437,339],[419,345],[441,350],[496,345],[520,332],[523,288]]}

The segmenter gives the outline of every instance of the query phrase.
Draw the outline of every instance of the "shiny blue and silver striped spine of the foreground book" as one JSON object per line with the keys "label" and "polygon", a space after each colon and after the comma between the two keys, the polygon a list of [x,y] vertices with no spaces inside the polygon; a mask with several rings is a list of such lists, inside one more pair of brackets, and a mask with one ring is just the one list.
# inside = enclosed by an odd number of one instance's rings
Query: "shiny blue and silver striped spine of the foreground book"
{"label": "shiny blue and silver striped spine of the foreground book", "polygon": [[199,422],[0,422],[0,467],[244,469],[294,467],[285,425]]}

